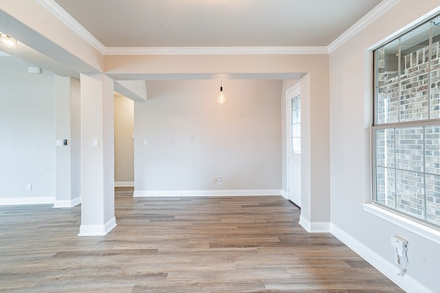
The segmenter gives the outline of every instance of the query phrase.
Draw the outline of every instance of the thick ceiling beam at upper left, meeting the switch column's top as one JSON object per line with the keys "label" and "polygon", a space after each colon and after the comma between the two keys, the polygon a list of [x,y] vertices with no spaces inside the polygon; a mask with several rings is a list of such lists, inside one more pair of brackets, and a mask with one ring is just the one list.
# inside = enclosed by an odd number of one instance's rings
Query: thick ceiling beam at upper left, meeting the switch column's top
{"label": "thick ceiling beam at upper left, meeting the switch column's top", "polygon": [[20,52],[25,48],[24,44],[73,71],[102,72],[104,61],[102,54],[65,27],[39,3],[26,0],[2,3],[0,28],[2,32],[20,42],[13,54],[6,51],[10,55],[24,54],[25,52]]}

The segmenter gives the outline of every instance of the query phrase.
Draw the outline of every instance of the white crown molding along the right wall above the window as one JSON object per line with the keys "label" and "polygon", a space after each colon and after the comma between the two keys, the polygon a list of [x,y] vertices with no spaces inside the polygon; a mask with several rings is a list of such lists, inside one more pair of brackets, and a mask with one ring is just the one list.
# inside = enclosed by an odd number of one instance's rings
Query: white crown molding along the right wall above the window
{"label": "white crown molding along the right wall above the window", "polygon": [[342,46],[348,40],[353,38],[355,34],[358,34],[358,32],[364,29],[364,27],[375,21],[375,19],[377,19],[387,10],[389,10],[394,5],[399,3],[399,1],[400,0],[384,0],[381,3],[379,3],[375,8],[373,8],[373,10],[365,14],[365,16],[362,17],[362,19],[360,19],[357,23],[352,25],[347,31],[345,31],[343,34],[338,36],[336,40],[333,40],[333,42],[331,42],[331,44],[327,46],[329,54],[331,54],[333,51],[338,49],[338,47]]}

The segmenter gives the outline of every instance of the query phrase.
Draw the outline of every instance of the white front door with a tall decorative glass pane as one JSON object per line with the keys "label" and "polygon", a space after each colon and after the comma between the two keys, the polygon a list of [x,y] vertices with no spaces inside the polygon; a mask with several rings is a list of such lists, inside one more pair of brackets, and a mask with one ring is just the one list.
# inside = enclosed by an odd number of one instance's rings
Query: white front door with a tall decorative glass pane
{"label": "white front door with a tall decorative glass pane", "polygon": [[287,99],[287,198],[301,207],[301,95],[296,84]]}

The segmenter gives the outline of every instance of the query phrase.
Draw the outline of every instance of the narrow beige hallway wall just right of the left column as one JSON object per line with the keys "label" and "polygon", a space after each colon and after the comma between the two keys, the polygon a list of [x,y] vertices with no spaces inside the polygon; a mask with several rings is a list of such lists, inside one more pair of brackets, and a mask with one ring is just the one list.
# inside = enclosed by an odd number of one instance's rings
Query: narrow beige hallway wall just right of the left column
{"label": "narrow beige hallway wall just right of the left column", "polygon": [[115,97],[115,186],[134,182],[134,105],[123,95]]}

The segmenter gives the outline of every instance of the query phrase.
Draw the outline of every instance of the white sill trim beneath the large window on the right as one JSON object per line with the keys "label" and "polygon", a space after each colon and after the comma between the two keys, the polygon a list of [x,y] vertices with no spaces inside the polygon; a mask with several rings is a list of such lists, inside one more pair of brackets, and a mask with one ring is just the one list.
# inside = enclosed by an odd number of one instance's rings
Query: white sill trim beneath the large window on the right
{"label": "white sill trim beneath the large window on the right", "polygon": [[406,229],[412,233],[415,233],[423,238],[426,238],[434,243],[440,244],[440,231],[436,228],[426,226],[410,218],[406,218],[403,215],[395,213],[395,211],[388,211],[383,207],[373,203],[361,203],[364,207],[364,211],[371,213],[383,220],[391,222],[401,228]]}

